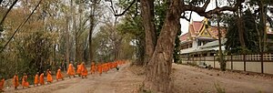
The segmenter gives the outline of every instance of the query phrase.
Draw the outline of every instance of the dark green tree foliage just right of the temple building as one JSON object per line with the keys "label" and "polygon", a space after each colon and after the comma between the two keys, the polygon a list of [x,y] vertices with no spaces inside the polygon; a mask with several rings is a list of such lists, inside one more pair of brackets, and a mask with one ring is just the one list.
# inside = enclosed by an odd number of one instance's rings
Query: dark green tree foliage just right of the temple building
{"label": "dark green tree foliage just right of the temple building", "polygon": [[226,16],[227,22],[227,42],[226,48],[227,53],[232,54],[242,54],[242,53],[257,53],[258,50],[258,31],[256,29],[257,24],[254,20],[254,16],[251,14],[250,10],[244,12],[243,21],[244,21],[244,40],[246,47],[241,47],[238,38],[238,26],[234,24],[237,22],[237,19],[233,15]]}

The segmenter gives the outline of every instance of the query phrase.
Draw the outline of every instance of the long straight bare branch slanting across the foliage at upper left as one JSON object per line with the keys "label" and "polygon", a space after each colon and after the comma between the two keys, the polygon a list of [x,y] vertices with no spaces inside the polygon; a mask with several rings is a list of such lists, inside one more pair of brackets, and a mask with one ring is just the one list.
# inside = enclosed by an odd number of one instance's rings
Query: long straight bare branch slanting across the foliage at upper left
{"label": "long straight bare branch slanting across the foliage at upper left", "polygon": [[2,47],[2,49],[0,50],[0,52],[2,52],[5,47],[9,44],[9,42],[12,40],[12,38],[14,38],[15,34],[19,31],[19,29],[22,27],[22,26],[25,26],[25,23],[28,21],[28,19],[31,17],[31,15],[34,14],[35,10],[37,9],[37,7],[42,3],[42,0],[39,1],[39,3],[35,6],[34,10],[31,12],[30,15],[27,16],[27,18],[25,19],[25,21],[23,23],[20,24],[20,26],[18,26],[15,30],[15,33],[8,39],[8,41],[5,43],[5,46]]}

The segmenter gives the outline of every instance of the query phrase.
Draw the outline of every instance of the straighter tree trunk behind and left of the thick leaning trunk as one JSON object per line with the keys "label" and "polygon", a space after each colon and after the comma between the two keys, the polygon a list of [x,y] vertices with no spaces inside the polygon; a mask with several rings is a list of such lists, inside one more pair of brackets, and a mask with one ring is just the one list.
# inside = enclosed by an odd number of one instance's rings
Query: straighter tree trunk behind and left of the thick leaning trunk
{"label": "straighter tree trunk behind and left of the thick leaning trunk", "polygon": [[156,44],[156,26],[154,24],[154,0],[140,0],[141,4],[141,15],[144,23],[144,29],[146,34],[146,57],[145,65],[153,56]]}

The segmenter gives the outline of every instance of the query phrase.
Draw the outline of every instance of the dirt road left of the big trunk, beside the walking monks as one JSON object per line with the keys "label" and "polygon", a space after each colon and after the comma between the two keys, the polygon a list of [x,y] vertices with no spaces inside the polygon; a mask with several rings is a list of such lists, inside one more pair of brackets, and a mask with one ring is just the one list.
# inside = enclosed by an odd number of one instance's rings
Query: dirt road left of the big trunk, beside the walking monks
{"label": "dirt road left of the big trunk, beside the walking monks", "polygon": [[[102,76],[88,75],[87,78],[65,78],[63,81],[54,81],[52,84],[25,88],[25,89],[8,89],[6,93],[130,93],[134,86],[124,86],[124,81],[129,79],[133,82],[136,78],[130,78],[134,74],[129,71],[129,64],[126,64],[117,71],[111,69],[108,73],[104,73]],[[123,88],[121,88],[123,87]],[[129,89],[126,89],[129,88]]]}

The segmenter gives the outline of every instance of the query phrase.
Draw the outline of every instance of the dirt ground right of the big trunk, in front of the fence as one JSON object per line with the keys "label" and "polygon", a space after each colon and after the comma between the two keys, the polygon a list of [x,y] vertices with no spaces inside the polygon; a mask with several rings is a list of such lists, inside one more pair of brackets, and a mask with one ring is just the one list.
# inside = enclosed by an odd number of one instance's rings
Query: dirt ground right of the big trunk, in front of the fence
{"label": "dirt ground right of the big trunk, in front of the fence", "polygon": [[227,93],[273,93],[273,78],[230,71],[173,65],[178,93],[216,93],[216,86]]}

